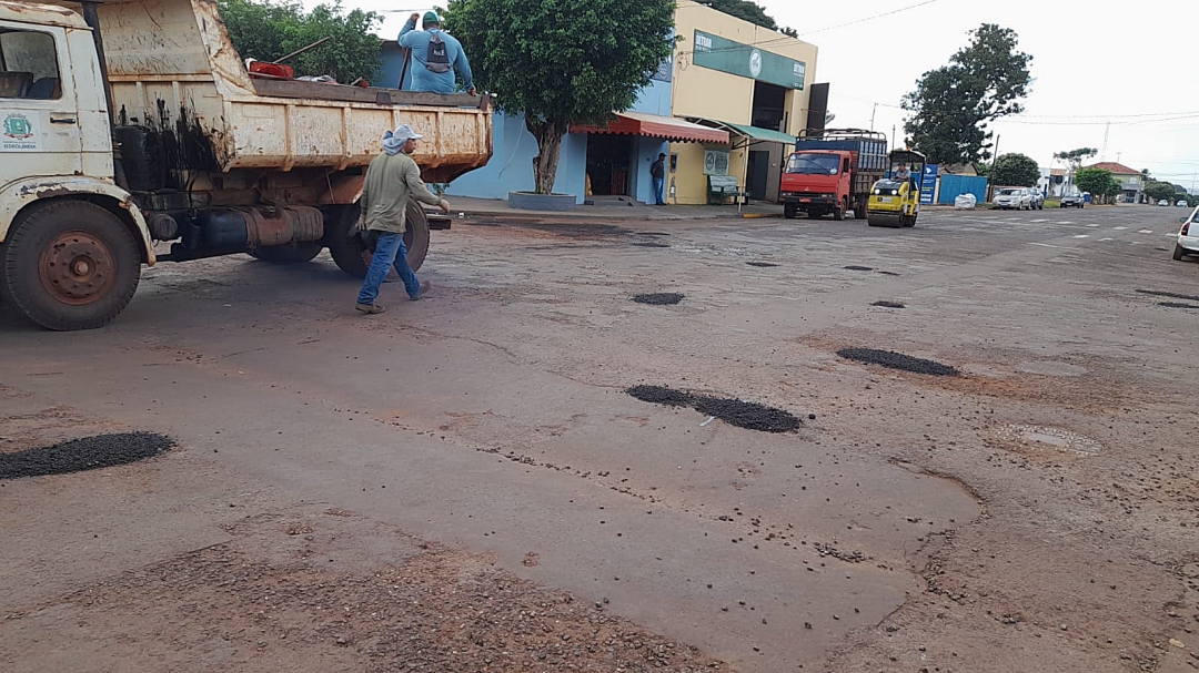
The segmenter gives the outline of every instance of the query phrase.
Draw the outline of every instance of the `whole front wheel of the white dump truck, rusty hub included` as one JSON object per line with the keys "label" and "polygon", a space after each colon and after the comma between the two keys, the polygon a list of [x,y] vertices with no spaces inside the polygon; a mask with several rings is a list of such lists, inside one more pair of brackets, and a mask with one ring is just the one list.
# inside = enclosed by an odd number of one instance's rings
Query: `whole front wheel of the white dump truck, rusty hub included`
{"label": "whole front wheel of the white dump truck, rusty hub included", "polygon": [[47,329],[101,327],[138,289],[141,251],[115,214],[88,201],[52,201],[13,224],[0,245],[5,304]]}

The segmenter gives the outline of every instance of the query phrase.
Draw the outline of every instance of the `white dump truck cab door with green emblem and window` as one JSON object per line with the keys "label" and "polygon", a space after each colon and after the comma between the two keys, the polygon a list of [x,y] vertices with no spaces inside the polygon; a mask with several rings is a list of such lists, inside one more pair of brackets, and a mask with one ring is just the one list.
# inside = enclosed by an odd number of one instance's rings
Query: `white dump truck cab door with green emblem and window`
{"label": "white dump truck cab door with green emblem and window", "polygon": [[0,22],[0,184],[83,169],[66,31]]}

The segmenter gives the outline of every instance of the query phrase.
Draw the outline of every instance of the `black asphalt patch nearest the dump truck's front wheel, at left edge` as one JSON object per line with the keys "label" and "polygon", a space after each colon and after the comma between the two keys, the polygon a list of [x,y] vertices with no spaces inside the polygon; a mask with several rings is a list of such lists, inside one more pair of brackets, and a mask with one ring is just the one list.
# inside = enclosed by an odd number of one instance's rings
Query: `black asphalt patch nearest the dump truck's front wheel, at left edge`
{"label": "black asphalt patch nearest the dump truck's front wheel, at left edge", "polygon": [[174,445],[174,439],[155,432],[122,432],[70,439],[52,447],[0,454],[0,479],[67,474],[128,465],[165,453]]}

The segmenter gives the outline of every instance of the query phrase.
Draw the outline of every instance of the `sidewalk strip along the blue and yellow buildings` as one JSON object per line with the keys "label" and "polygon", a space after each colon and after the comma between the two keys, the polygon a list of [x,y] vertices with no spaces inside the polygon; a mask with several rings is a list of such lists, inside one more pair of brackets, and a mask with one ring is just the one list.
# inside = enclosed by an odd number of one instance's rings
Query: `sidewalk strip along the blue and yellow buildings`
{"label": "sidewalk strip along the blue and yellow buildings", "polygon": [[502,199],[474,199],[470,196],[446,196],[453,218],[464,213],[469,218],[494,217],[498,219],[560,219],[586,220],[691,220],[783,217],[783,206],[776,204],[751,204],[742,206],[646,206],[627,200],[595,199],[595,205],[576,206],[568,212],[519,211],[508,207]]}

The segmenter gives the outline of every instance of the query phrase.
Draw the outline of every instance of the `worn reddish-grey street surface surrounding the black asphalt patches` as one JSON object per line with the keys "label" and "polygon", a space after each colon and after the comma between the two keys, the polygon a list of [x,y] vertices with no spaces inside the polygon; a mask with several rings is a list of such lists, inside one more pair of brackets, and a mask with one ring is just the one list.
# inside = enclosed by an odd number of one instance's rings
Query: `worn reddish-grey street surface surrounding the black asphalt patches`
{"label": "worn reddish-grey street surface surrounding the black asphalt patches", "polygon": [[177,447],[0,480],[0,669],[1193,671],[1182,214],[466,219],[379,316],[327,254],[6,315],[0,451]]}

